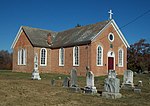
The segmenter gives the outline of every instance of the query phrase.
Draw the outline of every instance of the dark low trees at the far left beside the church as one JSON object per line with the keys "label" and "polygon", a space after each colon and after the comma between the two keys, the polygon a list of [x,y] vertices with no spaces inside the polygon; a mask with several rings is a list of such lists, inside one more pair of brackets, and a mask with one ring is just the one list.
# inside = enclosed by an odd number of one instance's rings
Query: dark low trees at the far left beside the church
{"label": "dark low trees at the far left beside the church", "polygon": [[12,53],[7,50],[0,51],[0,70],[12,69]]}

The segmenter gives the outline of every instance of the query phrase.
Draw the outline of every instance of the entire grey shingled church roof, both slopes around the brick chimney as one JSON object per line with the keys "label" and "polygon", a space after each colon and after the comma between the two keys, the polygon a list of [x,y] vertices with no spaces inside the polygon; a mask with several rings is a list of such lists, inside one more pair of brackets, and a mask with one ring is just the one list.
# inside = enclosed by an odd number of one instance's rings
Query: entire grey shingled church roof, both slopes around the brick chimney
{"label": "entire grey shingled church roof, both slopes around the brick chimney", "polygon": [[[62,32],[53,32],[38,28],[23,26],[23,30],[29,38],[30,42],[35,47],[70,47],[76,45],[89,44],[91,40],[109,23],[103,21],[96,24],[91,24],[82,27],[76,27]],[[47,34],[52,35],[52,45],[47,43]]]}

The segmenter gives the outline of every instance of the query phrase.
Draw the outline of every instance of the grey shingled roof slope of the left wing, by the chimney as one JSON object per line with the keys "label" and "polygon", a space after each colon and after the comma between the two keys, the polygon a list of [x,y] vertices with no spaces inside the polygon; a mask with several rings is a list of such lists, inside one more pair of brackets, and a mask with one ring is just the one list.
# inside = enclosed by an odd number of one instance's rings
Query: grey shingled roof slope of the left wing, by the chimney
{"label": "grey shingled roof slope of the left wing, by the chimney", "polygon": [[52,39],[54,39],[55,35],[57,34],[57,32],[50,30],[31,28],[27,26],[22,26],[22,28],[32,45],[35,47],[50,47],[47,43],[47,34],[51,33]]}

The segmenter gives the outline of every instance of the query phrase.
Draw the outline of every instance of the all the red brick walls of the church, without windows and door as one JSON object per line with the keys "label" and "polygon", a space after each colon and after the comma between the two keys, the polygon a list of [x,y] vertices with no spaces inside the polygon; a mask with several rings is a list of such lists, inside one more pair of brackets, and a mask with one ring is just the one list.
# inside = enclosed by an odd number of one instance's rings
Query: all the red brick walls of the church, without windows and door
{"label": "all the red brick walls of the church, without windows and door", "polygon": [[[108,34],[113,32],[114,41],[108,40]],[[103,47],[103,66],[96,66],[96,48],[98,45]],[[110,44],[113,44],[113,48],[110,48]],[[27,63],[26,65],[18,65],[18,49],[24,48],[27,51]],[[116,66],[118,64],[118,50],[122,48],[124,51],[124,67]],[[86,66],[90,66],[90,70],[93,71],[95,76],[106,75],[108,70],[108,51],[114,51],[115,53],[115,70],[117,74],[123,74],[123,71],[127,68],[127,49],[118,34],[114,31],[114,28],[109,26],[105,31],[101,33],[90,45],[83,45],[79,47],[79,66],[73,66],[73,47],[65,49],[65,62],[64,66],[59,66],[59,49],[47,50],[47,66],[40,66],[40,50],[39,47],[33,47],[22,32],[13,49],[13,71],[17,72],[32,72],[34,68],[34,54],[38,53],[39,72],[40,73],[63,73],[70,74],[70,70],[76,67],[78,75],[85,76]]]}

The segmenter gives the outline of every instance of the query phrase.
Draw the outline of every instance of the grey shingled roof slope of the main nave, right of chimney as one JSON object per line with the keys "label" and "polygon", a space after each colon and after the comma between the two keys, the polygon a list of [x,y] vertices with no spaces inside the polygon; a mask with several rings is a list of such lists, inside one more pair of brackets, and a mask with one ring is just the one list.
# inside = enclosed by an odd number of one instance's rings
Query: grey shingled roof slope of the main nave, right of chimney
{"label": "grey shingled roof slope of the main nave, right of chimney", "polygon": [[109,22],[103,21],[59,32],[53,41],[52,47],[59,48],[88,44]]}

